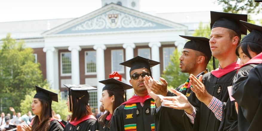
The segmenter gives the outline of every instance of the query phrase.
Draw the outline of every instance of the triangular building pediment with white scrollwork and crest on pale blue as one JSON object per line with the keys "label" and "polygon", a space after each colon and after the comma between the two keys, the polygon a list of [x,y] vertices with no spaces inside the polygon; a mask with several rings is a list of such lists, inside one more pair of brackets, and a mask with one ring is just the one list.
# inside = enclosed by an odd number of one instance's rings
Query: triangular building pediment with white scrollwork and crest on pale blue
{"label": "triangular building pediment with white scrollwork and crest on pale blue", "polygon": [[109,4],[43,33],[48,35],[186,29],[185,25]]}

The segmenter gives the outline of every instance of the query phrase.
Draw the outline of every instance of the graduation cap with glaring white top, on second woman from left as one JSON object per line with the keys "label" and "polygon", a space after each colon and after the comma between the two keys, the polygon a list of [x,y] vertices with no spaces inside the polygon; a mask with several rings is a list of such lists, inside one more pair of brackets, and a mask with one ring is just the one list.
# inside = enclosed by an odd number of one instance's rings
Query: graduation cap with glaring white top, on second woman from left
{"label": "graduation cap with glaring white top, on second woman from left", "polygon": [[[89,86],[86,84],[83,85],[73,85],[73,84],[64,84],[68,88],[68,95],[71,95],[72,97],[76,97],[78,100],[84,101],[88,105],[89,101],[89,90],[97,90],[93,86]],[[70,111],[71,109],[71,97],[69,97],[69,106]]]}

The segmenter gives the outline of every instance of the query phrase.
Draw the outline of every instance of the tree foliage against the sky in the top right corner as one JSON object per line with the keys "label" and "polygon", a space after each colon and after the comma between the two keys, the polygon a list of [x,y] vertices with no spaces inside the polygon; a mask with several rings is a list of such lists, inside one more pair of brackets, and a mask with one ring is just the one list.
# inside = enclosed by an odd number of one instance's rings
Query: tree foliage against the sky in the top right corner
{"label": "tree foliage against the sky in the top right corner", "polygon": [[261,5],[254,0],[217,0],[223,7],[223,12],[229,13],[260,13]]}

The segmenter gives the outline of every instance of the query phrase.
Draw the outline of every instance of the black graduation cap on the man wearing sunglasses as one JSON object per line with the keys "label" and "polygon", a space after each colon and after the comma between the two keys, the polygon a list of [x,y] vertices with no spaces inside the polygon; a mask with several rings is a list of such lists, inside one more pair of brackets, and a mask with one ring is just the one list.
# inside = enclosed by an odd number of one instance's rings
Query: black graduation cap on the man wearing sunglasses
{"label": "black graduation cap on the man wearing sunglasses", "polygon": [[152,75],[152,73],[151,73],[150,68],[153,67],[153,66],[156,66],[158,64],[160,64],[160,62],[150,60],[150,59],[140,57],[140,56],[136,56],[136,57],[134,57],[130,60],[127,60],[123,63],[120,63],[120,65],[130,67],[129,73],[131,71],[133,71],[134,69],[147,68],[151,75]]}

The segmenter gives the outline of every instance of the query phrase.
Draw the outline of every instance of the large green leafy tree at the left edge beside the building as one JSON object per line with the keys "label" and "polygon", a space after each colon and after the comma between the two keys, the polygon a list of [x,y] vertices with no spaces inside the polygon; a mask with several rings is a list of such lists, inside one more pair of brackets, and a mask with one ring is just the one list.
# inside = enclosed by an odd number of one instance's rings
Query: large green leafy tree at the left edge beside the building
{"label": "large green leafy tree at the left edge beside the building", "polygon": [[[0,105],[1,112],[11,113],[9,107],[21,112],[20,103],[35,85],[47,85],[39,63],[34,63],[33,49],[16,42],[7,34],[0,46]],[[32,100],[32,99],[31,99]]]}

